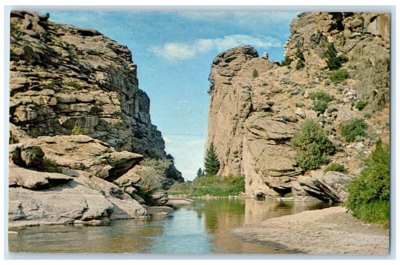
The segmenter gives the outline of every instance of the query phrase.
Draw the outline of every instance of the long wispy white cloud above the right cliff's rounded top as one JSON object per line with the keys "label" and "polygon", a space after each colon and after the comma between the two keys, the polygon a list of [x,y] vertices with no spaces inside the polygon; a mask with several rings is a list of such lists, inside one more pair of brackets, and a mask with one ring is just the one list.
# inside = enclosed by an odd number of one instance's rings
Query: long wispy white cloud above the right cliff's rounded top
{"label": "long wispy white cloud above the right cliff's rounded top", "polygon": [[278,39],[270,36],[249,36],[245,34],[227,35],[221,38],[200,38],[190,42],[167,42],[163,45],[150,46],[149,51],[167,60],[188,60],[198,53],[207,52],[212,49],[223,51],[239,45],[251,45],[268,49],[280,47]]}

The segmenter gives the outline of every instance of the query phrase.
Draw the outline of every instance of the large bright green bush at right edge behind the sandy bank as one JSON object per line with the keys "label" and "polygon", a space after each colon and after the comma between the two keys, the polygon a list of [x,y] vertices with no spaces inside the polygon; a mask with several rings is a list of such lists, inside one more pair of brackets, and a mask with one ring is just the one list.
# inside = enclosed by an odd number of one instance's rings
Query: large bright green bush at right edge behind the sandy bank
{"label": "large bright green bush at right edge behind the sandy bank", "polygon": [[375,150],[367,159],[367,167],[348,186],[345,206],[353,216],[363,221],[389,226],[389,147],[376,142]]}

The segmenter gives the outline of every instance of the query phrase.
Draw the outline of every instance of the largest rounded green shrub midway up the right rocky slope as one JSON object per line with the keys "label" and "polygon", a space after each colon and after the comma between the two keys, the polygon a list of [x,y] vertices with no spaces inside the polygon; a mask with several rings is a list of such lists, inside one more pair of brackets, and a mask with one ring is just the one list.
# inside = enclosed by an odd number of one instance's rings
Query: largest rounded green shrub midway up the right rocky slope
{"label": "largest rounded green shrub midway up the right rocky slope", "polygon": [[300,131],[291,138],[291,144],[296,152],[295,160],[303,170],[316,169],[328,163],[329,156],[335,151],[325,131],[313,119],[303,121]]}

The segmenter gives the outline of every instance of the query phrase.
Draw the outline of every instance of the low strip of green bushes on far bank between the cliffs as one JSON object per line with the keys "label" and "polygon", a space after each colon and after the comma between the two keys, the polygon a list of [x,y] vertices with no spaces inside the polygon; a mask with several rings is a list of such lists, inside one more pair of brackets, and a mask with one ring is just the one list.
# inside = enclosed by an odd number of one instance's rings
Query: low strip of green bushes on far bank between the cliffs
{"label": "low strip of green bushes on far bank between the cliffs", "polygon": [[168,190],[169,195],[196,196],[235,196],[244,193],[244,176],[222,177],[215,175],[196,178],[188,183],[175,183]]}

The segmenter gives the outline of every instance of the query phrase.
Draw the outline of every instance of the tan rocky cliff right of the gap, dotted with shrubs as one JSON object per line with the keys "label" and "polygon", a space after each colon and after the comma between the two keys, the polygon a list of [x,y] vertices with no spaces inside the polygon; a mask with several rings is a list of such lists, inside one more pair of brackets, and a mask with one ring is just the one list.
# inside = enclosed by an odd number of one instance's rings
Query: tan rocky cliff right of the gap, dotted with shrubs
{"label": "tan rocky cliff right of the gap, dotted with shrubs", "polygon": [[[305,191],[305,183],[312,183],[311,172],[304,172],[294,159],[290,140],[306,118],[317,120],[334,144],[331,161],[359,173],[375,140],[389,141],[389,21],[387,13],[302,13],[290,25],[285,66],[269,61],[267,54],[259,57],[250,46],[218,54],[209,75],[206,140],[206,148],[211,142],[216,147],[218,173],[244,175],[246,193],[253,197],[292,192],[298,198],[329,198],[315,185]],[[324,55],[328,43],[348,59],[341,67],[348,72],[346,80],[329,78]],[[299,69],[297,51],[304,63]],[[332,97],[322,112],[312,108],[310,95],[317,91]],[[359,101],[366,103],[360,110],[355,108]],[[340,128],[354,118],[367,123],[367,135],[346,143]],[[299,182],[303,175],[306,180]]]}

